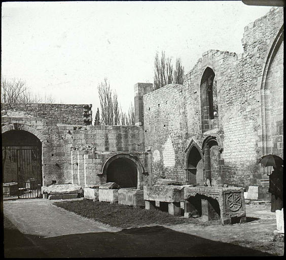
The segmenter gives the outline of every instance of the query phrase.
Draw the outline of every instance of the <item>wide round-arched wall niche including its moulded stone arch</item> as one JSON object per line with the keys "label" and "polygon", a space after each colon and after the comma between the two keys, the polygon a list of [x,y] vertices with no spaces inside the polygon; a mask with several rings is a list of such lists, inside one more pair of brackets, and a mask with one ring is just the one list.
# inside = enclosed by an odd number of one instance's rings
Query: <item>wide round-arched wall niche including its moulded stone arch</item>
{"label": "wide round-arched wall niche including its moulded stone arch", "polygon": [[102,175],[106,182],[116,182],[122,188],[142,188],[144,168],[137,157],[128,153],[119,153],[105,161]]}

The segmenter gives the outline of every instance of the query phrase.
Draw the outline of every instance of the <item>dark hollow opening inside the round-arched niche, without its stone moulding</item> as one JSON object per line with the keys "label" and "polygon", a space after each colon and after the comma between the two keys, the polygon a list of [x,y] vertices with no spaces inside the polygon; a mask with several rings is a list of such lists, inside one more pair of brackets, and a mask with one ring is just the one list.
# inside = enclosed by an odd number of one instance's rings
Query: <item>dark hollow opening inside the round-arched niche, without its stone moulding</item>
{"label": "dark hollow opening inside the round-arched niche, without its stone moulding", "polygon": [[115,159],[106,170],[106,182],[116,182],[121,188],[136,188],[136,165],[128,158]]}

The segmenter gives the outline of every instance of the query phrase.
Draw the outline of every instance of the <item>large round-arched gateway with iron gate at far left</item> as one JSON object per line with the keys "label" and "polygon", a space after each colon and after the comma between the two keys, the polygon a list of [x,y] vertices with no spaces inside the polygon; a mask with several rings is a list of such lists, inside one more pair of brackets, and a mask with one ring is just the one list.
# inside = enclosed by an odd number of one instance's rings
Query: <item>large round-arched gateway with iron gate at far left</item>
{"label": "large round-arched gateway with iron gate at far left", "polygon": [[[41,193],[42,143],[33,134],[10,130],[2,134],[4,192],[18,198],[37,198]],[[13,183],[13,184],[11,184]],[[12,189],[12,188],[11,188]]]}

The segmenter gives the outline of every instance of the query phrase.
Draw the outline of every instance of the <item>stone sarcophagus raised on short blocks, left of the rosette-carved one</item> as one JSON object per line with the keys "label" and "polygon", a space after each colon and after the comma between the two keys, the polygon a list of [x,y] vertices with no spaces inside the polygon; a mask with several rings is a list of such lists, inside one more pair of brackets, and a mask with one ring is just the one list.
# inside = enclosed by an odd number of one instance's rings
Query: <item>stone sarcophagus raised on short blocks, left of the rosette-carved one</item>
{"label": "stone sarcophagus raised on short blocks, left of the rosette-carved one", "polygon": [[181,202],[184,202],[184,189],[192,185],[153,185],[144,186],[144,200],[146,209],[162,208],[168,204],[170,215],[181,215]]}

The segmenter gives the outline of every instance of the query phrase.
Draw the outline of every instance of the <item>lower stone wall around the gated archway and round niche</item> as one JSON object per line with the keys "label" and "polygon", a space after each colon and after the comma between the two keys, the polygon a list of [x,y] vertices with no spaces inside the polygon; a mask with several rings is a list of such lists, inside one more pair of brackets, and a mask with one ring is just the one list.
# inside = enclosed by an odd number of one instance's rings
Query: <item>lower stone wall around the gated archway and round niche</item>
{"label": "lower stone wall around the gated archway and round niche", "polygon": [[[102,184],[106,181],[106,176],[101,174],[105,161],[121,153],[136,156],[146,174],[151,176],[142,127],[57,125],[34,118],[2,117],[2,138],[8,146],[11,140],[7,141],[6,135],[11,130],[29,132],[41,141],[44,186],[52,181],[82,186]],[[88,150],[92,152],[85,152]],[[83,163],[84,154],[86,164]],[[148,182],[150,177],[146,176],[142,181]]]}

